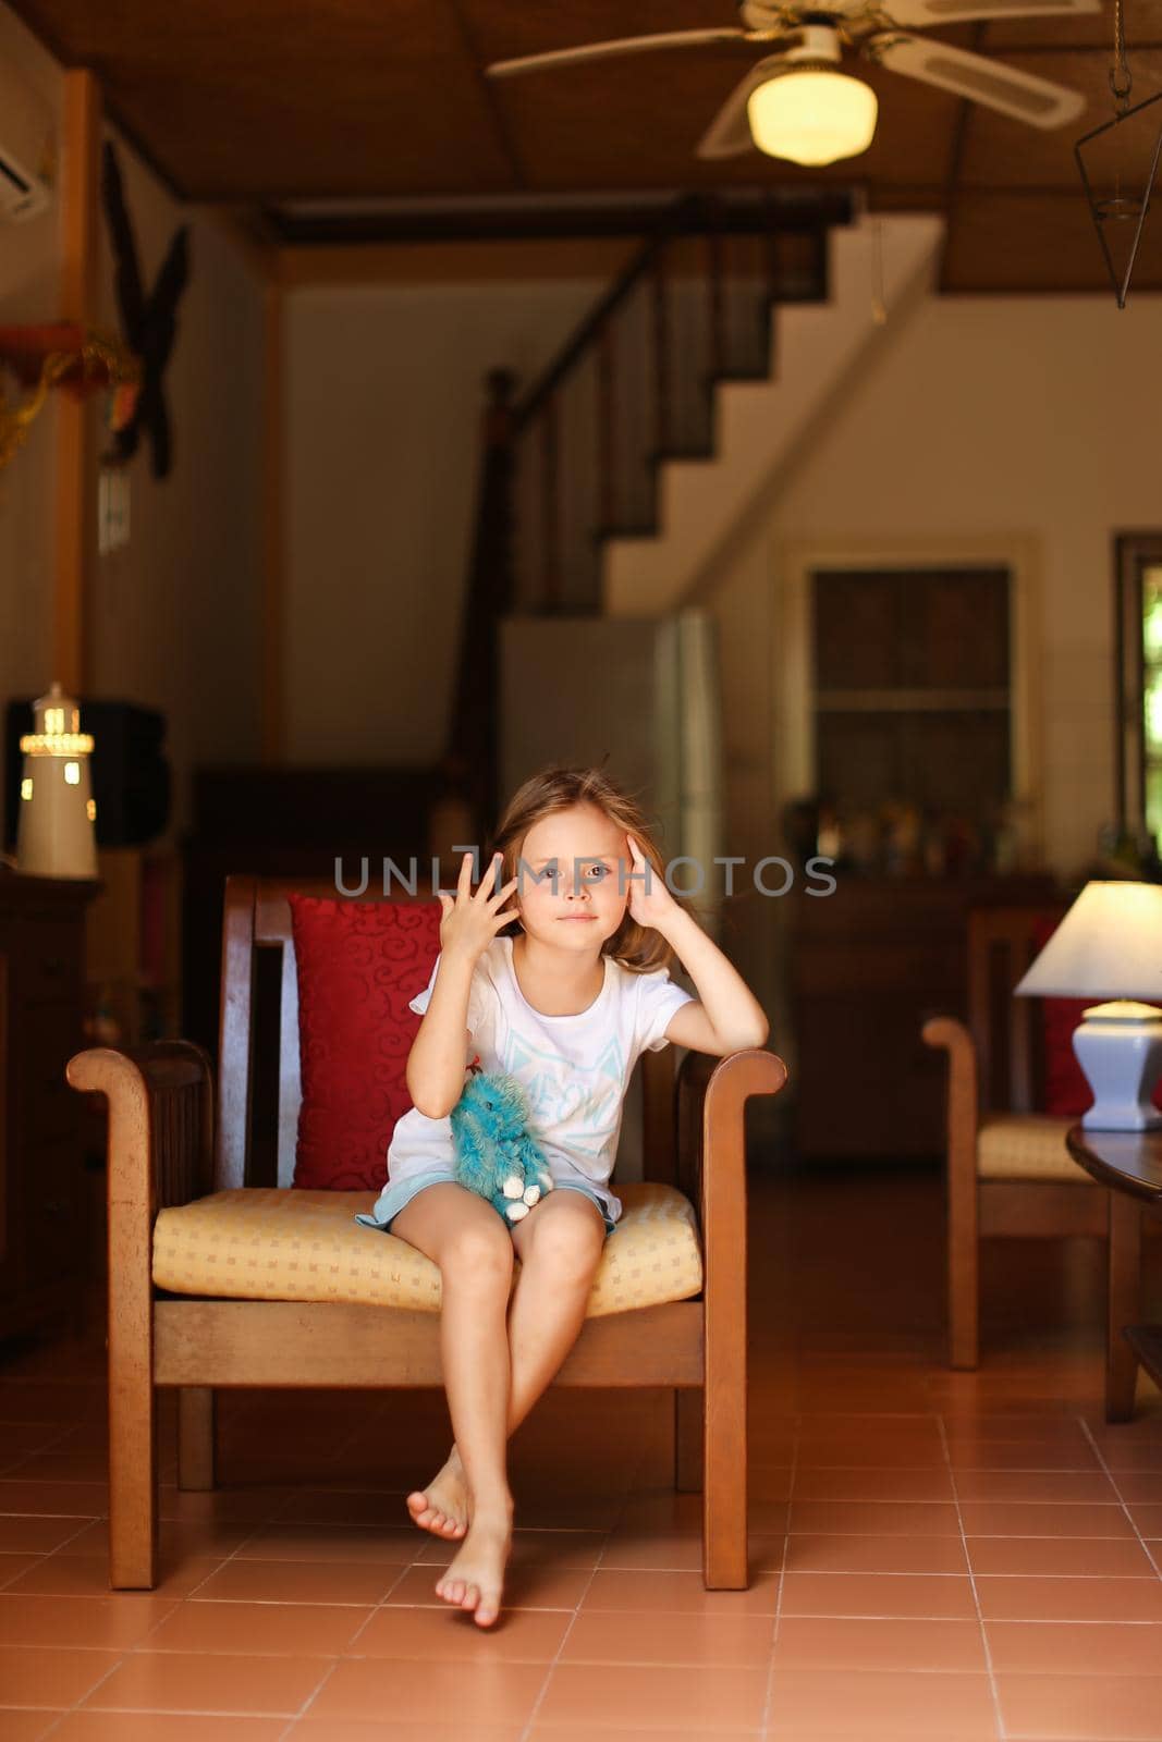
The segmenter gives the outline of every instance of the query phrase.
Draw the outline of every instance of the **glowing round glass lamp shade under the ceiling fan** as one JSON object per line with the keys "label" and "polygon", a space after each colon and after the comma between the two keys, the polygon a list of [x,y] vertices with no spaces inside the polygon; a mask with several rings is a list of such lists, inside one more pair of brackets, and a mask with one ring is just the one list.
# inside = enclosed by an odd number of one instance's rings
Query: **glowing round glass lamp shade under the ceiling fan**
{"label": "glowing round glass lamp shade under the ceiling fan", "polygon": [[876,94],[862,78],[817,66],[777,73],[746,105],[760,152],[793,164],[834,164],[866,152],[876,113]]}

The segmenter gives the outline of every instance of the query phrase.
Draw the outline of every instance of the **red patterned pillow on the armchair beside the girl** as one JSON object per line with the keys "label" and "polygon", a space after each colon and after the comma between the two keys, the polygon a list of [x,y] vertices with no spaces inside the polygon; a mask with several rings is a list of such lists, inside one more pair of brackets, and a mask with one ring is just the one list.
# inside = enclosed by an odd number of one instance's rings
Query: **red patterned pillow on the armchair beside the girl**
{"label": "red patterned pillow on the armchair beside the girl", "polygon": [[294,1185],[378,1192],[411,1106],[404,1073],[420,1017],[408,1000],[432,977],[441,906],[289,899],[303,1080]]}

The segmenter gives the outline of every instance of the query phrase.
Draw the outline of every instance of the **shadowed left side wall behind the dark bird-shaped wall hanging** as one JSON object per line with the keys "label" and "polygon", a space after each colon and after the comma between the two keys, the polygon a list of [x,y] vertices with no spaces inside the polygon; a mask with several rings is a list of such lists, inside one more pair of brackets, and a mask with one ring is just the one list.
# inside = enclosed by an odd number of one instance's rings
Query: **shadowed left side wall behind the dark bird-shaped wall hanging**
{"label": "shadowed left side wall behind the dark bird-shaped wall hanging", "polygon": [[[63,71],[2,0],[0,61],[40,92],[59,125]],[[117,143],[146,287],[183,221],[192,226],[190,284],[166,376],[171,476],[152,477],[143,444],[131,463],[129,545],[98,557],[92,528],[85,692],[166,714],[176,833],[188,815],[195,761],[260,754],[263,291],[213,216],[174,200]],[[0,322],[59,317],[59,223],[54,202],[40,218],[0,228]],[[96,314],[118,327],[103,218]],[[106,444],[103,416],[99,395],[98,451]],[[51,395],[21,453],[0,470],[0,707],[40,693],[56,676],[56,462]]]}

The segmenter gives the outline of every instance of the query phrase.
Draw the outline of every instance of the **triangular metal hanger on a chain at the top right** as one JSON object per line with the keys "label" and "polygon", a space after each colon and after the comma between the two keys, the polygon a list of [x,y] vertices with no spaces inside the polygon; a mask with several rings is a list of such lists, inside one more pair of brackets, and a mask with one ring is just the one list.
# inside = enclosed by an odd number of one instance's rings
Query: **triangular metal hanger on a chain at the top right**
{"label": "triangular metal hanger on a chain at the top right", "polygon": [[[1085,199],[1094,219],[1094,228],[1098,230],[1098,242],[1101,244],[1101,253],[1110,273],[1110,282],[1113,284],[1113,294],[1117,296],[1118,308],[1125,308],[1129,280],[1134,272],[1134,261],[1138,260],[1138,244],[1141,242],[1146,213],[1150,211],[1153,181],[1159,172],[1159,153],[1162,152],[1162,110],[1159,110],[1159,132],[1157,136],[1146,138],[1146,148],[1141,155],[1139,167],[1136,172],[1132,171],[1131,152],[1136,129],[1127,127],[1125,132],[1118,134],[1118,127],[1125,127],[1127,122],[1136,120],[1136,117],[1153,108],[1155,103],[1160,103],[1162,91],[1157,91],[1152,98],[1145,98],[1131,108],[1131,70],[1125,61],[1122,0],[1113,0],[1113,66],[1110,68],[1110,91],[1113,92],[1115,110],[1113,120],[1106,120],[1101,127],[1094,127],[1091,132],[1084,134],[1073,146],[1073,157],[1077,159],[1082,186],[1085,188]],[[1155,117],[1150,117],[1146,120],[1146,127],[1150,127],[1153,120]],[[1141,129],[1138,129],[1138,136],[1143,136]],[[1110,146],[1113,148],[1111,153],[1108,150]],[[1091,159],[1089,164],[1085,162],[1087,150]],[[1141,193],[1134,192],[1134,181],[1141,185]],[[1105,192],[1099,192],[1103,186]],[[1122,251],[1125,251],[1125,265],[1118,268],[1115,265],[1115,254],[1120,254]]]}

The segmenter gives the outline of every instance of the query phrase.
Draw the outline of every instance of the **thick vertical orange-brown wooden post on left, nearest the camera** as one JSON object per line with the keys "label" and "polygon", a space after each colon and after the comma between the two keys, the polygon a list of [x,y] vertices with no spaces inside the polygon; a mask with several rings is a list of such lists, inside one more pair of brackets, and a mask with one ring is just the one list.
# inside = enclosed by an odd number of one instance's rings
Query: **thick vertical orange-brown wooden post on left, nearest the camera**
{"label": "thick vertical orange-brown wooden post on left, nearest the camera", "polygon": [[[84,68],[64,73],[61,139],[59,317],[89,326],[98,296],[98,164],[101,87]],[[71,695],[91,676],[89,582],[98,512],[94,413],[91,401],[57,395],[56,608],[52,676]]]}

